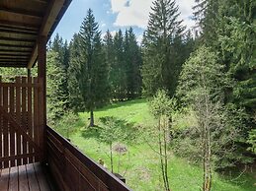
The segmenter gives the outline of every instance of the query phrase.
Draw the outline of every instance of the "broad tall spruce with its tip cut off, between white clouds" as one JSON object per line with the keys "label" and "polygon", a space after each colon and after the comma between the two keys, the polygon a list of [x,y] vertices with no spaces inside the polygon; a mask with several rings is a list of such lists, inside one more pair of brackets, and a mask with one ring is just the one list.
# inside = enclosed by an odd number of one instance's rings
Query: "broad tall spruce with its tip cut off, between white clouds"
{"label": "broad tall spruce with its tip cut off, between white clouds", "polygon": [[144,93],[152,96],[158,89],[165,89],[168,96],[174,96],[183,63],[176,47],[182,46],[184,28],[175,1],[156,0],[151,9],[142,44]]}

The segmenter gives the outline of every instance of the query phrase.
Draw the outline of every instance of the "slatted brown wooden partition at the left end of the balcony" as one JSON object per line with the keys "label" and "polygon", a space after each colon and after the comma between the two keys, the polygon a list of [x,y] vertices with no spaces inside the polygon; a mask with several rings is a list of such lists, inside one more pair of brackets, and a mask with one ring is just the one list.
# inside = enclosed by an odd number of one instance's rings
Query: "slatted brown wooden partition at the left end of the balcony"
{"label": "slatted brown wooden partition at the left end of the balcony", "polygon": [[0,76],[0,168],[41,160],[43,155],[42,79]]}

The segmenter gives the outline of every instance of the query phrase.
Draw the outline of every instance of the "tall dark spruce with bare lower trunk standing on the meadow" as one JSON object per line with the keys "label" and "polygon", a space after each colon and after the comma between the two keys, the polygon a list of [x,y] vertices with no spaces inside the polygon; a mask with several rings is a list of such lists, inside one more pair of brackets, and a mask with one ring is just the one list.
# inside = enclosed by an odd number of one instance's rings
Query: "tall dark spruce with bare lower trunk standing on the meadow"
{"label": "tall dark spruce with bare lower trunk standing on the meadow", "polygon": [[85,108],[94,126],[94,109],[108,100],[108,67],[104,60],[101,32],[92,10],[89,9],[79,32],[79,71],[76,74]]}

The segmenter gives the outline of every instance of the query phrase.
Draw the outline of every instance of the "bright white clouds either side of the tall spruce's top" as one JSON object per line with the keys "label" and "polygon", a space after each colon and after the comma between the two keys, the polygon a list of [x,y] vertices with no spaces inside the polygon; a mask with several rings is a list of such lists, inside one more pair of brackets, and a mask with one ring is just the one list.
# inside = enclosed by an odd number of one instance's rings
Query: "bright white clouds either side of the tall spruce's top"
{"label": "bright white clouds either side of the tall spruce's top", "polygon": [[[114,25],[118,27],[135,26],[145,29],[152,2],[153,0],[111,0],[112,12],[118,14]],[[184,25],[192,27],[194,21],[190,17],[193,13],[194,0],[176,0],[176,3],[180,8],[180,18],[184,20]]]}

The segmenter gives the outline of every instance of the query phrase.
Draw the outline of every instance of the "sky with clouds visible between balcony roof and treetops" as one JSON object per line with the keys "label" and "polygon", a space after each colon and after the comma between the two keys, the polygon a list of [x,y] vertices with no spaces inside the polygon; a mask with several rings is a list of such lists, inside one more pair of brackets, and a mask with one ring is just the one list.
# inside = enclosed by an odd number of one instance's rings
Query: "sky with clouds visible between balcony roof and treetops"
{"label": "sky with clouds visible between balcony roof and treetops", "polygon": [[[132,27],[140,41],[152,2],[153,0],[73,0],[51,37],[58,32],[63,39],[69,41],[75,32],[79,32],[87,10],[91,8],[103,34],[107,30],[115,33],[119,29]],[[184,20],[184,25],[192,27],[194,0],[176,0],[176,3],[180,8],[180,19]]]}

